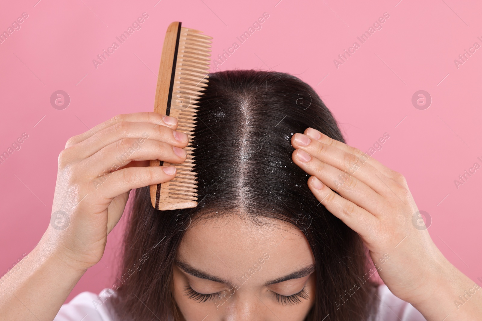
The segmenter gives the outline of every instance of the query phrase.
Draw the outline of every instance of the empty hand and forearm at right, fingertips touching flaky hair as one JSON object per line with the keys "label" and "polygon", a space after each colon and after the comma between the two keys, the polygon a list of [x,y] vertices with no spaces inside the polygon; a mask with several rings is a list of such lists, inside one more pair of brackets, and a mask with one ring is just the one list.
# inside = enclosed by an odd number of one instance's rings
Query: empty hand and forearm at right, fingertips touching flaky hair
{"label": "empty hand and forearm at right, fingertips touching flaky hair", "polygon": [[312,175],[311,192],[361,236],[394,295],[427,320],[475,320],[480,315],[482,290],[475,291],[463,308],[454,304],[474,288],[474,282],[433,243],[402,174],[313,128],[295,133],[291,143],[293,161]]}

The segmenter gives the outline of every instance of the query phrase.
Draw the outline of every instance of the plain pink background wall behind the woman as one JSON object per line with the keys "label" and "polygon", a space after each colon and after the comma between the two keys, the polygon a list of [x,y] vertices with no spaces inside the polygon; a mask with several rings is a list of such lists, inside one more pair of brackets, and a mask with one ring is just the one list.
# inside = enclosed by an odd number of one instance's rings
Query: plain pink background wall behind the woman
{"label": "plain pink background wall behind the woman", "polygon": [[[278,1],[4,1],[0,31],[24,12],[28,18],[0,44],[0,153],[22,133],[28,138],[0,164],[1,275],[49,224],[66,141],[116,114],[152,111],[164,34],[182,21],[214,37],[214,58],[238,42],[217,70],[269,69],[306,81],[348,144],[368,151],[388,133],[373,156],[407,178],[442,253],[473,280],[482,276],[482,169],[458,189],[454,183],[475,162],[482,165],[482,49],[458,68],[454,63],[474,42],[482,45],[482,3]],[[97,54],[144,12],[141,29],[95,68]],[[265,12],[262,28],[240,44],[236,37]],[[382,29],[361,44],[357,37],[385,12]],[[336,68],[334,59],[355,41],[360,48]],[[56,90],[70,96],[64,110],[50,103]],[[412,104],[417,90],[430,94],[428,109]],[[112,286],[123,227],[121,221],[109,235],[102,262],[68,300]]]}

